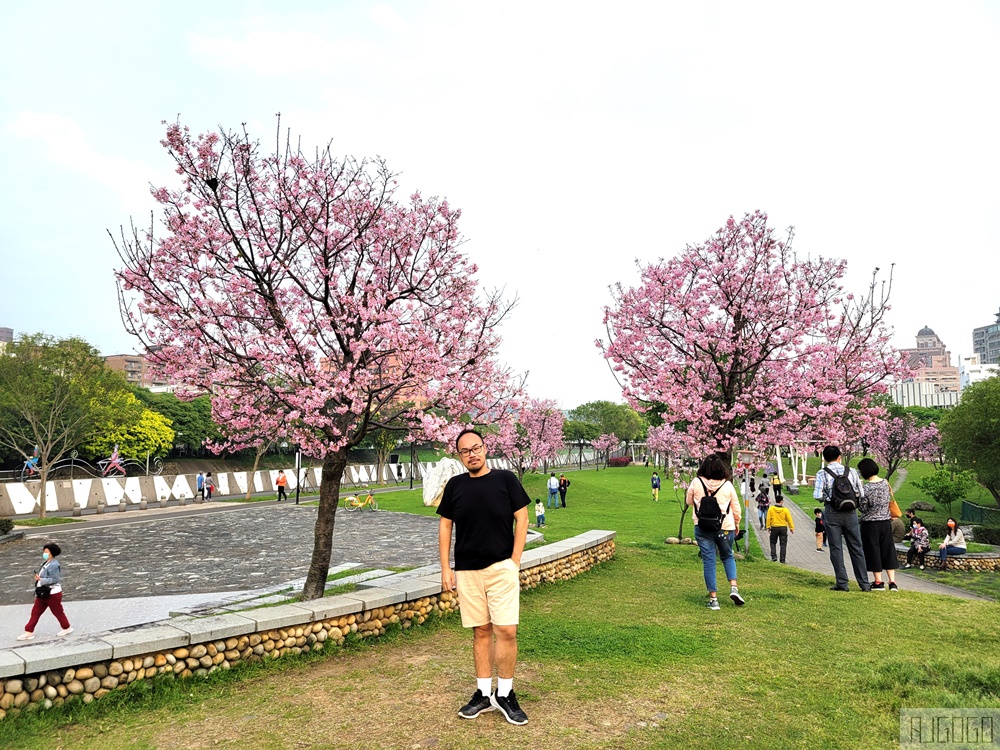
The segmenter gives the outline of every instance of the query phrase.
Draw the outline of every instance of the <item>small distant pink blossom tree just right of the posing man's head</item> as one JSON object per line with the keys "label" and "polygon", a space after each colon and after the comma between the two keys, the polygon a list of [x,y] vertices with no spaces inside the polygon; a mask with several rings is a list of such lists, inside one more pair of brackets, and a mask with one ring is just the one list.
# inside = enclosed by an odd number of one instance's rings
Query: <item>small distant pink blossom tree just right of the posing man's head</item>
{"label": "small distant pink blossom tree just right of the posing man's head", "polygon": [[510,461],[520,479],[529,469],[558,457],[563,448],[563,419],[555,401],[527,399],[500,422],[493,451]]}

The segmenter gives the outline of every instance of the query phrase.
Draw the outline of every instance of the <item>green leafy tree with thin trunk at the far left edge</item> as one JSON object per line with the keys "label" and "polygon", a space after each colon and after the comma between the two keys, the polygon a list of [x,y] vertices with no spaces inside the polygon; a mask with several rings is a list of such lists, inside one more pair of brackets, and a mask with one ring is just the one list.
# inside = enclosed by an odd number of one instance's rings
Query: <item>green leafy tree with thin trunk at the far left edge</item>
{"label": "green leafy tree with thin trunk at the far left edge", "polygon": [[94,439],[127,389],[82,339],[20,336],[0,353],[0,443],[25,460],[37,447],[44,487],[51,465]]}

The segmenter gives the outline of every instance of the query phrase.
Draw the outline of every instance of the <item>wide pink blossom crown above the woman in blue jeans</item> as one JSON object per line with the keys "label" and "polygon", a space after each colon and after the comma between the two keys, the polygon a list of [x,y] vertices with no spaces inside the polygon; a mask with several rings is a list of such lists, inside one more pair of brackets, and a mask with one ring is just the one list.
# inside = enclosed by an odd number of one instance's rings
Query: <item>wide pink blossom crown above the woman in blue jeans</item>
{"label": "wide pink blossom crown above the woman in blue jeans", "polygon": [[[761,212],[612,287],[598,341],[636,408],[656,408],[690,455],[842,437],[902,368],[888,293],[855,301],[842,260],[801,259]],[[874,284],[873,284],[874,288]]]}

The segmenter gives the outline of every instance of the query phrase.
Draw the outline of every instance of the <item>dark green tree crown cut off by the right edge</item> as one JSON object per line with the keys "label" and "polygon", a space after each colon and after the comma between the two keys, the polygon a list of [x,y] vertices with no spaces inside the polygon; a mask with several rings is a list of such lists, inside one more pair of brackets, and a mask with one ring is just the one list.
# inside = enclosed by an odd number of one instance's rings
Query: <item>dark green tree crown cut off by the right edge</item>
{"label": "dark green tree crown cut off by the right edge", "polygon": [[971,471],[1000,505],[1000,377],[974,383],[941,418],[945,455]]}

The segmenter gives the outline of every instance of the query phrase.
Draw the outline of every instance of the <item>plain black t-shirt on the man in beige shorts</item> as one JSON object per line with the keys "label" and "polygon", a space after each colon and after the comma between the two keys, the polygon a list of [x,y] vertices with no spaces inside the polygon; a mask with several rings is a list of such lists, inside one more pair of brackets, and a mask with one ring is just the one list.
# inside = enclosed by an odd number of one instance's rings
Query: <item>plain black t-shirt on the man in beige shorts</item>
{"label": "plain black t-shirt on the man in beige shorts", "polygon": [[482,570],[514,554],[514,513],[528,502],[517,476],[505,469],[449,479],[438,515],[455,523],[455,570]]}

